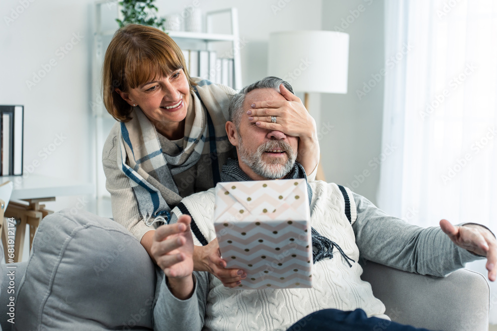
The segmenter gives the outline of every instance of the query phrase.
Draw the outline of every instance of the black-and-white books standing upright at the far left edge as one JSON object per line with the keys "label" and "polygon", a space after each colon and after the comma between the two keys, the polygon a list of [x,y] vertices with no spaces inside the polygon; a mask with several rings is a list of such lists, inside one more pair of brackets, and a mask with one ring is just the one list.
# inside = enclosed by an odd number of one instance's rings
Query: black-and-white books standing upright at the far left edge
{"label": "black-and-white books standing upright at the far left edge", "polygon": [[0,105],[0,175],[22,175],[24,107]]}

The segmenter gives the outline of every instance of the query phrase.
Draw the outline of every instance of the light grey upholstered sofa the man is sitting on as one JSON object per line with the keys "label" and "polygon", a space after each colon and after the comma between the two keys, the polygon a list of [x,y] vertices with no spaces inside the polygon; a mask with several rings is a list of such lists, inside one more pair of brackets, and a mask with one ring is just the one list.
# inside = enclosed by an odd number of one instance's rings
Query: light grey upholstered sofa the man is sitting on
{"label": "light grey upholstered sofa the man is sitting on", "polygon": [[[69,210],[49,215],[29,262],[9,266],[16,266],[15,324],[7,322],[10,280],[2,265],[4,331],[153,329],[161,271],[138,240],[108,218]],[[363,279],[392,320],[431,330],[488,330],[490,288],[483,275],[462,269],[439,278],[367,261],[363,266]]]}

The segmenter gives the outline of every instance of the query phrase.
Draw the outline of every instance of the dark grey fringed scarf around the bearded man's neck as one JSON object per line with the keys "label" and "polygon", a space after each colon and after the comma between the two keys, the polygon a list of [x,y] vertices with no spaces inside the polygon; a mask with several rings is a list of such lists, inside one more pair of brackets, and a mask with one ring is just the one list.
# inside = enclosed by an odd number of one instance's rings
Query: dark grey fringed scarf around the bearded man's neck
{"label": "dark grey fringed scarf around the bearded man's neck", "polygon": [[[307,183],[307,175],[304,170],[304,167],[300,165],[300,163],[295,162],[293,165],[293,169],[285,176],[285,179],[298,179],[304,178]],[[245,182],[251,181],[250,177],[240,168],[238,161],[229,159],[225,166],[223,166],[223,172],[221,173],[221,179],[223,182]],[[309,183],[307,183],[307,193],[309,197],[309,205],[312,201],[312,189]],[[311,208],[312,210],[312,208]],[[313,263],[316,264],[318,261],[324,260],[326,258],[333,258],[333,248],[336,248],[345,262],[352,267],[349,260],[355,262],[350,259],[345,252],[330,239],[322,236],[319,232],[311,227],[311,235],[312,235],[312,246],[313,246]]]}

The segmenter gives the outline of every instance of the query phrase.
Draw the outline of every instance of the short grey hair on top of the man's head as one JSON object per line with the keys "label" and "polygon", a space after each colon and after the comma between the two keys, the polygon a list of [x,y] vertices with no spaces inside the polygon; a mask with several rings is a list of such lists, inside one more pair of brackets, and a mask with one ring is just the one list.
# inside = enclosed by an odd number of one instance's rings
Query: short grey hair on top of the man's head
{"label": "short grey hair on top of the man's head", "polygon": [[235,124],[235,127],[238,130],[238,127],[240,125],[240,120],[242,118],[243,114],[243,107],[244,107],[244,102],[245,102],[245,97],[247,96],[247,93],[253,90],[257,90],[260,88],[272,88],[279,92],[279,85],[283,84],[283,86],[286,87],[287,90],[293,93],[293,88],[292,86],[285,80],[278,78],[278,77],[265,77],[262,78],[261,80],[257,80],[255,83],[250,84],[248,86],[245,86],[242,88],[242,90],[231,99],[230,103],[230,120]]}

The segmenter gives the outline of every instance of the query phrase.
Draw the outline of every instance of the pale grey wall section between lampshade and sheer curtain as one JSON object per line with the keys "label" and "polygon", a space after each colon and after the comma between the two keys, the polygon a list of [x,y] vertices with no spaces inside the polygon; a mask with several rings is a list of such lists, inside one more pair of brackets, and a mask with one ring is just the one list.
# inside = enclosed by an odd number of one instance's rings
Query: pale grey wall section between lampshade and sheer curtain
{"label": "pale grey wall section between lampshade and sheer curtain", "polygon": [[350,35],[348,93],[322,95],[321,123],[334,126],[320,141],[326,179],[375,203],[380,168],[374,158],[385,148],[381,146],[383,80],[360,100],[356,90],[384,68],[384,3],[323,1],[322,14],[323,30],[342,29]]}

